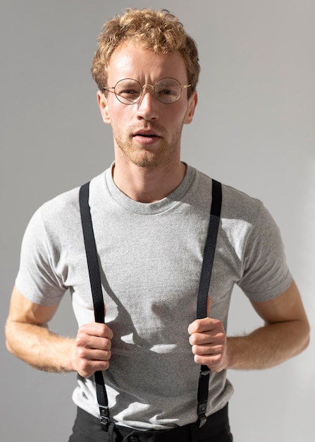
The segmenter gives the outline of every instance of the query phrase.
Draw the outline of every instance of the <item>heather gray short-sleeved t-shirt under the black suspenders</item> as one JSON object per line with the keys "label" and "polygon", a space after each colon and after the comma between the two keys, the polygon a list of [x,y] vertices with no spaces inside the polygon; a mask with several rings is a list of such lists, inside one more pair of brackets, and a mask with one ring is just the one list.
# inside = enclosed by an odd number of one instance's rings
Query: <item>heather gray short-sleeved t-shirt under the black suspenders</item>
{"label": "heather gray short-sleeved t-shirt under the black suspenders", "polygon": [[[43,305],[58,304],[70,289],[81,325],[94,316],[78,192],[57,196],[32,217],[16,285]],[[111,364],[104,372],[111,416],[137,429],[194,422],[199,366],[187,326],[196,317],[211,179],[188,166],[173,193],[145,204],[122,193],[107,169],[92,179],[89,205],[106,323],[113,330]],[[278,227],[264,205],[223,185],[210,316],[227,325],[235,284],[250,300],[266,301],[285,292],[291,282]],[[226,371],[211,373],[207,414],[226,405],[232,393]],[[93,377],[78,376],[73,400],[99,416]]]}

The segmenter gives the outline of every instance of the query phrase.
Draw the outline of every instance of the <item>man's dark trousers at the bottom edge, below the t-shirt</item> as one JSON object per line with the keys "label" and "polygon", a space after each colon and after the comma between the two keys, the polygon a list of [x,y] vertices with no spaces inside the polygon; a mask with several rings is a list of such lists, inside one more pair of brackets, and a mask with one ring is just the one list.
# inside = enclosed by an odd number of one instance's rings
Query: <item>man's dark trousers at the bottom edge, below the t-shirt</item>
{"label": "man's dark trousers at the bottom edge, below the t-shirt", "polygon": [[169,430],[137,431],[111,424],[109,431],[101,429],[97,417],[78,407],[73,434],[68,442],[232,442],[228,423],[228,405],[206,419],[199,428],[197,423],[177,426]]}

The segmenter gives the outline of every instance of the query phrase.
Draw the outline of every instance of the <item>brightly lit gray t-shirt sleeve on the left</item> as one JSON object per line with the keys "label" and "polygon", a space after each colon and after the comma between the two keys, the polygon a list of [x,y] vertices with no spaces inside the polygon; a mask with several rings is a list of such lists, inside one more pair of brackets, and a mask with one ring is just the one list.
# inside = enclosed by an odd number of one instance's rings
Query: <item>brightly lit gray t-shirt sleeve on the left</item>
{"label": "brightly lit gray t-shirt sleeve on the left", "polygon": [[57,305],[67,287],[58,274],[58,251],[49,244],[42,220],[42,208],[32,216],[22,241],[16,286],[30,301]]}

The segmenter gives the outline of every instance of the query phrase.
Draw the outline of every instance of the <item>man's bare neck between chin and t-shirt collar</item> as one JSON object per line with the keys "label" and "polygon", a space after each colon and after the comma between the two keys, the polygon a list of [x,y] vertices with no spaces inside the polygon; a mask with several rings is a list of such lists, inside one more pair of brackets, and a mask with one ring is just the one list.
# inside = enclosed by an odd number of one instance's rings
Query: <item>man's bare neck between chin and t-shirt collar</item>
{"label": "man's bare neck between chin and t-shirt collar", "polygon": [[186,166],[174,164],[139,167],[130,162],[122,165],[116,161],[113,181],[118,189],[134,201],[156,203],[173,192],[185,177]]}

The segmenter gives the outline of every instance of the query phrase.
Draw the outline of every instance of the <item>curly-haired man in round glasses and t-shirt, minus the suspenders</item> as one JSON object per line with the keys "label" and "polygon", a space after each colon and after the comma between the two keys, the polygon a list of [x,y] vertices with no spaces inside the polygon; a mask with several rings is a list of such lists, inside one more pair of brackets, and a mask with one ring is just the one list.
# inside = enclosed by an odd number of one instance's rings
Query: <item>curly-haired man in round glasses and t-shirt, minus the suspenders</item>
{"label": "curly-haired man in round glasses and t-shirt, minus the suspenders", "polygon": [[[278,229],[260,201],[229,186],[206,317],[196,319],[214,184],[180,161],[180,139],[194,116],[198,74],[196,45],[168,11],[130,9],[101,32],[92,75],[115,162],[92,179],[89,206],[106,323],[94,322],[79,189],[44,204],[25,232],[8,350],[37,369],[78,372],[71,442],[232,441],[226,369],[265,369],[307,347],[309,324]],[[264,326],[232,338],[225,330],[235,283]],[[47,326],[68,288],[76,339]],[[197,412],[200,366],[211,370],[206,422]],[[109,425],[99,424],[99,371]]]}

